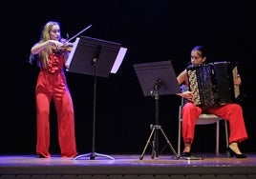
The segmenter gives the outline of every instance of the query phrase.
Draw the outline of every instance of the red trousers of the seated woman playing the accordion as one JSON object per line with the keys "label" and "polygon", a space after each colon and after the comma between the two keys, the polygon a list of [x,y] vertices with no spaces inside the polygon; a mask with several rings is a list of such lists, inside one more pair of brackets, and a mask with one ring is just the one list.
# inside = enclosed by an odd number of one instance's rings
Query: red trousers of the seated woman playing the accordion
{"label": "red trousers of the seated woman playing the accordion", "polygon": [[186,103],[182,108],[182,137],[185,142],[193,142],[195,125],[199,115],[212,113],[224,118],[229,122],[229,143],[242,142],[248,138],[245,129],[243,109],[238,104],[227,104],[218,107],[197,107],[193,103]]}

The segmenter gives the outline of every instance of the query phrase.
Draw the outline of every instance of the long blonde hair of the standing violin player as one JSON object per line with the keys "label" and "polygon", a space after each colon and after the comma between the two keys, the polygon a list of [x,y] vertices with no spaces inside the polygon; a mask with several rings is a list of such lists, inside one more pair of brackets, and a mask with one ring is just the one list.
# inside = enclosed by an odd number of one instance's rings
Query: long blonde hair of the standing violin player
{"label": "long blonde hair of the standing violin player", "polygon": [[[45,42],[50,40],[50,31],[53,29],[53,26],[58,26],[60,27],[59,23],[56,21],[49,21],[48,23],[46,23],[46,25],[44,26],[43,30],[42,30],[42,34],[41,34],[41,38],[40,38],[40,42]],[[59,36],[59,41],[61,41],[61,35]],[[51,46],[45,48],[44,50],[42,50],[40,52],[40,57],[41,57],[41,65],[42,68],[47,68],[47,65],[49,63],[49,53],[53,52],[53,48]]]}

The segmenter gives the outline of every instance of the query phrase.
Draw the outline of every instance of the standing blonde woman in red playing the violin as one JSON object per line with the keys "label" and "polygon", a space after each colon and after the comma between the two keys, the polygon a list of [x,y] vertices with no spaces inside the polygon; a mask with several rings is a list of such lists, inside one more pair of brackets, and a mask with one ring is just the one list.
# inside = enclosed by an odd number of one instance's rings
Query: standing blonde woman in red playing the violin
{"label": "standing blonde woman in red playing the violin", "polygon": [[38,55],[40,71],[35,87],[36,154],[50,158],[50,105],[53,101],[57,114],[58,144],[61,157],[75,157],[75,113],[73,99],[64,69],[69,56],[69,44],[61,38],[59,22],[45,24],[40,41],[32,46]]}

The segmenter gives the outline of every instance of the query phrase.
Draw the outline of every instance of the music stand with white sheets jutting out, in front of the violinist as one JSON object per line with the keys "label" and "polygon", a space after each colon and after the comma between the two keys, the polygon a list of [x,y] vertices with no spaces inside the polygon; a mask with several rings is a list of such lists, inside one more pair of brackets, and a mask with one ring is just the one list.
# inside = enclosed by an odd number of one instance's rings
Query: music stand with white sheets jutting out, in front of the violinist
{"label": "music stand with white sheets jutting out, in front of the violinist", "polygon": [[119,43],[88,36],[81,36],[75,39],[73,49],[65,64],[67,70],[75,73],[94,75],[95,79],[92,152],[78,155],[74,159],[89,156],[91,160],[95,160],[96,156],[101,156],[114,160],[109,155],[96,153],[96,77],[108,77],[110,72],[116,73],[126,50],[125,48],[121,48]]}

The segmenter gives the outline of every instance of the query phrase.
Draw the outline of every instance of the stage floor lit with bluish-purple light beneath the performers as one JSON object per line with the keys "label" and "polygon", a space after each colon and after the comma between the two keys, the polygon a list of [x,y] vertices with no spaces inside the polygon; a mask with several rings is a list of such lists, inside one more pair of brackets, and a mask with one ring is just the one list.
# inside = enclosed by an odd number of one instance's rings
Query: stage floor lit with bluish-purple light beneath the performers
{"label": "stage floor lit with bluish-purple light beneath the performers", "polygon": [[36,155],[0,156],[2,178],[256,178],[256,154],[247,158],[227,158],[225,154],[199,153],[196,157],[177,158],[175,155],[113,154],[78,155],[76,159],[37,158]]}

